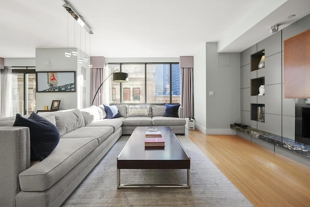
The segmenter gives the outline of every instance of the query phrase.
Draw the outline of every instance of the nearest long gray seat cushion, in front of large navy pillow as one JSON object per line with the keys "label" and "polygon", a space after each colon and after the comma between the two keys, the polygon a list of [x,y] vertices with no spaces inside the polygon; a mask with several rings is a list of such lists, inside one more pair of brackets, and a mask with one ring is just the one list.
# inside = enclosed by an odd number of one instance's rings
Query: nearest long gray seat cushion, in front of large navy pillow
{"label": "nearest long gray seat cushion, in front of large navy pillow", "polygon": [[46,159],[19,174],[21,190],[49,189],[97,146],[94,138],[61,139]]}

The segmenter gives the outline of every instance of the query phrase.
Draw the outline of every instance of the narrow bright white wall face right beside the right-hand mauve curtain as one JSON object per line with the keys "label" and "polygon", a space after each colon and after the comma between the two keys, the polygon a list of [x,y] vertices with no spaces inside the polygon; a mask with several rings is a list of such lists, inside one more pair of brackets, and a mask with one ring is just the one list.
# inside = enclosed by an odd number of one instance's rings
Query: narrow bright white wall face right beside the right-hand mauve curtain
{"label": "narrow bright white wall face right beside the right-hand mauve curtain", "polygon": [[206,44],[194,55],[195,127],[206,133]]}

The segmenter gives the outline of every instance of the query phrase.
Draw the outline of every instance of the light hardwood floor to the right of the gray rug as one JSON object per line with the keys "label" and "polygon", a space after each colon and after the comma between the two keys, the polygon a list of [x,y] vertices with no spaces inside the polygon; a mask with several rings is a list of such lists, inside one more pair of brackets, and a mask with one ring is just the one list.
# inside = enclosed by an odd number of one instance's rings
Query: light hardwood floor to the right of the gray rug
{"label": "light hardwood floor to the right of the gray rug", "polygon": [[310,207],[309,166],[237,135],[188,137],[255,207]]}

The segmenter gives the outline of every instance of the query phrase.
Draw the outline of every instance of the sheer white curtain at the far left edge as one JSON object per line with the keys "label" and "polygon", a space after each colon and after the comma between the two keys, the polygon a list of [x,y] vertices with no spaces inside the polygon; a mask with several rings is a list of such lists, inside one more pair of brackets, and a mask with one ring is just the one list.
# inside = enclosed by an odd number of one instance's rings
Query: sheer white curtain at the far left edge
{"label": "sheer white curtain at the far left edge", "polygon": [[12,69],[0,69],[0,117],[13,116],[12,107]]}

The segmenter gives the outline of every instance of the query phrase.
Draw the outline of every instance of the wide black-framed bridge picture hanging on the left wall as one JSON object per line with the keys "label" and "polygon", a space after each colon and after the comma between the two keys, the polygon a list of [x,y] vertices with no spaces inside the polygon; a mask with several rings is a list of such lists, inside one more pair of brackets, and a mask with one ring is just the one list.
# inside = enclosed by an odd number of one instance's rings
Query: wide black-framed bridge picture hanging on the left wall
{"label": "wide black-framed bridge picture hanging on the left wall", "polygon": [[76,92],[76,72],[36,72],[36,89],[37,92]]}

